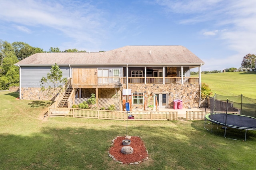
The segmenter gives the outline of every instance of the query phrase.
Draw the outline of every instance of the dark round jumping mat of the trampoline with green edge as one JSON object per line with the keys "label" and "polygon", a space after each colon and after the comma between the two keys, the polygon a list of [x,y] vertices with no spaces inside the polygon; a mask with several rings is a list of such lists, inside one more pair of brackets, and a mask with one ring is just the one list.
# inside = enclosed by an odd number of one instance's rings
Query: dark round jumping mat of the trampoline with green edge
{"label": "dark round jumping mat of the trampoline with green edge", "polygon": [[256,130],[256,118],[248,117],[244,115],[227,114],[226,113],[215,113],[207,114],[205,118],[218,125],[224,125],[226,123],[227,127],[246,129],[246,130]]}

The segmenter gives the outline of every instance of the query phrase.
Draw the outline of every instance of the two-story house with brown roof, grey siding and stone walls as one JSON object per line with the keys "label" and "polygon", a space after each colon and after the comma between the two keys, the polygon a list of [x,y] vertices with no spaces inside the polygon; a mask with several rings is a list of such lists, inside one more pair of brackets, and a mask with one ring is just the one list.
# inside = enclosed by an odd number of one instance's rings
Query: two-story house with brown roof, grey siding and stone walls
{"label": "two-story house with brown roof, grey siding and stone walls", "polygon": [[[132,108],[143,108],[145,103],[172,108],[175,99],[182,99],[184,108],[200,105],[200,68],[204,62],[180,45],[33,54],[15,64],[20,67],[20,99],[48,99],[40,91],[40,80],[55,63],[62,76],[69,78],[72,104],[82,103],[94,93],[98,108],[107,107],[111,99],[116,109],[122,110],[122,100],[126,100],[122,91],[131,89]],[[190,77],[190,69],[196,67],[199,76]]]}

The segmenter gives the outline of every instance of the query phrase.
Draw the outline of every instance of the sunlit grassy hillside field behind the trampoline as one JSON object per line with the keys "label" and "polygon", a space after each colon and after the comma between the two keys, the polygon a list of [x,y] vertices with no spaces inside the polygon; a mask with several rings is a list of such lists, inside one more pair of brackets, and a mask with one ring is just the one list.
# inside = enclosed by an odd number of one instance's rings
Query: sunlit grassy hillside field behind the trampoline
{"label": "sunlit grassy hillside field behind the trampoline", "polygon": [[213,94],[227,96],[243,94],[256,99],[256,71],[202,74],[202,83],[209,85]]}

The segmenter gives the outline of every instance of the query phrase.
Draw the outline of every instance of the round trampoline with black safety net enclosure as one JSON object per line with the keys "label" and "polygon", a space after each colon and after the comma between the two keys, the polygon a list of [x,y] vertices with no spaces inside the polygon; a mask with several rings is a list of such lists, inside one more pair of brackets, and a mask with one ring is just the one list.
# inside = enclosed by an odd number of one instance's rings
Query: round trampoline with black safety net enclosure
{"label": "round trampoline with black safety net enclosure", "polygon": [[[242,129],[245,130],[244,141],[246,141],[247,130],[256,130],[256,99],[246,97],[243,103],[242,95],[231,97],[233,101],[223,100],[223,98],[227,99],[228,97],[217,94],[214,97],[210,97],[210,113],[205,115],[204,128],[209,130],[206,125],[212,124],[213,127],[213,123],[222,125],[225,129],[225,138],[227,127]],[[212,132],[212,129],[209,131]]]}

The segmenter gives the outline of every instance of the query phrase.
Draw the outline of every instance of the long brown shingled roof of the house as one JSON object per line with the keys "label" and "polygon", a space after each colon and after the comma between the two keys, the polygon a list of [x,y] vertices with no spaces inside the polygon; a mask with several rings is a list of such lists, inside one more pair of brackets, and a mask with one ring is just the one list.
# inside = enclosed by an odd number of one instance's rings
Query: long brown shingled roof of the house
{"label": "long brown shingled roof of the house", "polygon": [[204,62],[181,45],[128,45],[105,52],[36,53],[15,65],[188,65]]}

